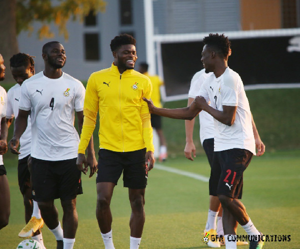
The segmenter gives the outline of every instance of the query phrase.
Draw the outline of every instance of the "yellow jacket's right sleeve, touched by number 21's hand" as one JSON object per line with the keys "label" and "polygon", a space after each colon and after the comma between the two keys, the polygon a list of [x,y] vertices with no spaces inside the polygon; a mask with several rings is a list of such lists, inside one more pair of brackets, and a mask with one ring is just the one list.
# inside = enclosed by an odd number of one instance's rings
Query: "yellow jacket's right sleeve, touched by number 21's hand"
{"label": "yellow jacket's right sleeve, touched by number 21's hand", "polygon": [[152,94],[152,84],[150,80],[148,80],[147,88],[144,94],[141,96],[140,118],[142,121],[142,137],[146,145],[146,150],[154,152],[153,129],[151,126],[151,120],[150,120],[151,117],[149,113],[149,108],[147,103],[142,100],[143,97],[145,97],[146,99],[150,99],[151,94]]}

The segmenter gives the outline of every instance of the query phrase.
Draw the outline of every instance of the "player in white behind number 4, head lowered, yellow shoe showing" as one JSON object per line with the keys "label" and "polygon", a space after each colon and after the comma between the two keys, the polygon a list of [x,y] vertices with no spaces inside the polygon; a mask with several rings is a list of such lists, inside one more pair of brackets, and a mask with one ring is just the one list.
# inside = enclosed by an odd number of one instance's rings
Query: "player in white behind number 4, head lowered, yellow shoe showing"
{"label": "player in white behind number 4, head lowered, yellow shoe showing", "polygon": [[[7,110],[6,123],[9,126],[13,118],[18,114],[18,102],[21,95],[21,85],[24,80],[34,75],[34,61],[31,56],[23,53],[13,55],[10,60],[10,71],[13,79],[17,82],[7,92]],[[43,226],[43,220],[37,202],[32,199],[30,172],[28,169],[28,158],[31,151],[31,124],[28,116],[28,123],[25,132],[20,137],[20,154],[18,155],[18,184],[21,194],[23,195],[23,203],[25,207],[26,226],[19,232],[19,237],[32,237],[43,246],[40,228]]]}

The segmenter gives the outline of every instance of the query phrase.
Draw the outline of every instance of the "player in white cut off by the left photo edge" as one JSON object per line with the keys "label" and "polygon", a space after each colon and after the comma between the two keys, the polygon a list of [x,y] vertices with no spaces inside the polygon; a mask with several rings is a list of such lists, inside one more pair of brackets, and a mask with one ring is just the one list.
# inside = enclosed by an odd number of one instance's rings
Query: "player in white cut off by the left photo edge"
{"label": "player in white cut off by the left photo edge", "polygon": [[[0,55],[0,81],[5,78],[5,66]],[[0,86],[0,229],[8,224],[10,214],[10,194],[6,177],[6,170],[3,165],[2,155],[7,151],[7,124],[5,119],[7,96],[3,87]],[[4,122],[5,119],[5,122]]]}

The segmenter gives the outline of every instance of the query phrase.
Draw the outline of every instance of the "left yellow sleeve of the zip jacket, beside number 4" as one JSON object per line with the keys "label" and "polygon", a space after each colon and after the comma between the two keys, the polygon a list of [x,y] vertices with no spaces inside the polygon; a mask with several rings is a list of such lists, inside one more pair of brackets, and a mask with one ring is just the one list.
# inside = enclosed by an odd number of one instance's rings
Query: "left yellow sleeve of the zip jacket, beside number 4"
{"label": "left yellow sleeve of the zip jacket, beside number 4", "polygon": [[83,126],[80,135],[78,153],[84,154],[90,137],[95,129],[97,112],[99,108],[99,98],[95,85],[95,79],[91,75],[87,81],[84,106],[83,106]]}

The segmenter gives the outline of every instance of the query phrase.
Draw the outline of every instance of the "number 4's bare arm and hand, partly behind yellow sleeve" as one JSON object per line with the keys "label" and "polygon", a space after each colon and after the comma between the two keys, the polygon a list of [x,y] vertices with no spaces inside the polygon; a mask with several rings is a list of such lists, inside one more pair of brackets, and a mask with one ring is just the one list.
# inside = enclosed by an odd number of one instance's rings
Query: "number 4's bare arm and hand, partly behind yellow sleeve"
{"label": "number 4's bare arm and hand, partly behind yellow sleeve", "polygon": [[[83,111],[79,111],[77,112],[77,117],[78,117],[78,129],[79,132],[81,133],[82,130],[82,125],[83,125]],[[79,154],[78,154],[79,155]],[[85,158],[85,156],[84,156]],[[82,172],[85,174],[87,172],[87,167],[89,167],[89,177],[92,177],[92,175],[96,172],[97,169],[97,160],[95,158],[95,151],[94,151],[94,147],[93,147],[93,136],[91,135],[90,140],[88,142],[87,145],[87,157],[86,157],[86,168],[84,168],[84,171]],[[81,164],[82,167],[82,164]],[[80,170],[80,169],[79,169]]]}

